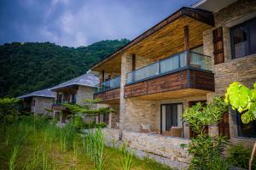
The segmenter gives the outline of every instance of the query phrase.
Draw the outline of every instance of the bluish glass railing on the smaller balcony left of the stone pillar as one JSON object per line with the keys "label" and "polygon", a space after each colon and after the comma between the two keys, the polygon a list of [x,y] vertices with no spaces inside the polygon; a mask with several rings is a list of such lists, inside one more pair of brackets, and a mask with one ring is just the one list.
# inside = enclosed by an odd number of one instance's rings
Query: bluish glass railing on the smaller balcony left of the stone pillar
{"label": "bluish glass railing on the smaller balcony left of the stone pillar", "polygon": [[120,80],[121,77],[114,77],[106,82],[102,82],[102,84],[97,87],[96,92],[102,92],[112,88],[119,88]]}

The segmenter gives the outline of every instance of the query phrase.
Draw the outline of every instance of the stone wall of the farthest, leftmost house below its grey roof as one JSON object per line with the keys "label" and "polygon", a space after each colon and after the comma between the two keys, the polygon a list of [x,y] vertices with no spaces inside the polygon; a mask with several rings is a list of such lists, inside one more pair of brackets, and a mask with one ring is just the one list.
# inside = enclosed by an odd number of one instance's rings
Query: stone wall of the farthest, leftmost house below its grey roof
{"label": "stone wall of the farthest, leftmost house below its grey roof", "polygon": [[48,111],[45,109],[51,109],[54,104],[53,98],[44,98],[44,97],[33,97],[32,100],[35,100],[35,105],[31,106],[31,111],[35,114],[47,114]]}

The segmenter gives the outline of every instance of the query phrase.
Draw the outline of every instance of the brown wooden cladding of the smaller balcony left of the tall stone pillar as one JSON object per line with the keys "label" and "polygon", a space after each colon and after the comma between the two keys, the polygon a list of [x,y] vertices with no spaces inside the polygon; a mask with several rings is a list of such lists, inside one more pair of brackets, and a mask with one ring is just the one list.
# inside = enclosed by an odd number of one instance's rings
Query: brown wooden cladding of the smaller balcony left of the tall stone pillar
{"label": "brown wooden cladding of the smaller balcony left of the tall stone pillar", "polygon": [[94,94],[94,98],[101,99],[102,102],[120,99],[120,88],[110,89],[105,92]]}

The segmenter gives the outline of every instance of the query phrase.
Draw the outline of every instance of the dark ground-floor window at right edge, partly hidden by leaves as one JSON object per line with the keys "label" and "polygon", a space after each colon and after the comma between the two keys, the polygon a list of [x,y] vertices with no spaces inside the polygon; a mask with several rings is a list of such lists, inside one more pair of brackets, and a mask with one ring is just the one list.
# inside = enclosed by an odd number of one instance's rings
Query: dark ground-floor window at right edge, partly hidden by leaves
{"label": "dark ground-floor window at right edge, partly hidden by leaves", "polygon": [[256,138],[256,121],[241,122],[241,114],[236,112],[237,132],[240,137]]}

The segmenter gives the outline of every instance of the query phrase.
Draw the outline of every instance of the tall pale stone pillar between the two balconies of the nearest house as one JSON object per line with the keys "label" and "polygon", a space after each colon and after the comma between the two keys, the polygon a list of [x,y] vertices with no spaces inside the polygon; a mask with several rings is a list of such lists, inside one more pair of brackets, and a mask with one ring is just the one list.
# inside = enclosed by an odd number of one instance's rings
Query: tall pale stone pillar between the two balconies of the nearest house
{"label": "tall pale stone pillar between the two balconies of the nearest house", "polygon": [[121,56],[121,82],[120,82],[120,111],[119,111],[119,139],[122,139],[122,133],[125,125],[125,83],[126,74],[131,71],[131,54]]}

